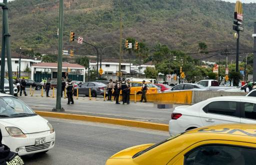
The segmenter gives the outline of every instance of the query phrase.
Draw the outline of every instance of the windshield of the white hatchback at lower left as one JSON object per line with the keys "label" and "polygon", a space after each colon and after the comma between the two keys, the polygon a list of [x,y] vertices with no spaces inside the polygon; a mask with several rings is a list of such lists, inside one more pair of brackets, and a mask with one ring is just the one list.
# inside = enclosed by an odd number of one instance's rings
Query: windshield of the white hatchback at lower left
{"label": "windshield of the white hatchback at lower left", "polygon": [[33,110],[18,98],[0,97],[0,117],[36,115]]}

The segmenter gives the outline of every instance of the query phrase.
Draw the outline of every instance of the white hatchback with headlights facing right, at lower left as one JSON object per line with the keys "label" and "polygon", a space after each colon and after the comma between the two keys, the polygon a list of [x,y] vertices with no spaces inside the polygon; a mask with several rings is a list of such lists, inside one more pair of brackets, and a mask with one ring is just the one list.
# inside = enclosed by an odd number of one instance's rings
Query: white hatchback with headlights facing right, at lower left
{"label": "white hatchback with headlights facing right, at lower left", "polygon": [[2,143],[19,155],[46,152],[55,144],[52,125],[20,99],[0,93]]}

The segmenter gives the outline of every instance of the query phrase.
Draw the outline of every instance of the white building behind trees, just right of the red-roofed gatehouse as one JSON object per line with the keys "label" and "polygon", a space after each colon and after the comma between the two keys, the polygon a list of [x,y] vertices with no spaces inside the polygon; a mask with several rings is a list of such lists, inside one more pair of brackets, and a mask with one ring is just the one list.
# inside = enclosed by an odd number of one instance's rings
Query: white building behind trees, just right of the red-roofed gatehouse
{"label": "white building behind trees, just right of the red-roofed gatehouse", "polygon": [[[90,69],[97,69],[97,61],[96,60],[90,60]],[[98,62],[98,69],[100,62]],[[131,72],[132,72],[132,63],[128,62],[122,62],[121,63],[121,72],[124,74],[130,73],[130,66],[131,66]],[[101,68],[103,69],[103,74],[116,74],[119,70],[119,60],[118,59],[104,59],[101,61]]]}

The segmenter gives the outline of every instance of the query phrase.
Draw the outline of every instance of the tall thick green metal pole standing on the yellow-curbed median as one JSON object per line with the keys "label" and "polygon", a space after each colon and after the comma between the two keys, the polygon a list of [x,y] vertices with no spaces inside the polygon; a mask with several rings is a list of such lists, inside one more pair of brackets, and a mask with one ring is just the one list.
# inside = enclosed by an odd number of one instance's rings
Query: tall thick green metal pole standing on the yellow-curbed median
{"label": "tall thick green metal pole standing on the yellow-curbed median", "polygon": [[58,68],[57,68],[57,96],[56,107],[52,111],[64,111],[61,107],[61,76],[62,76],[62,49],[63,49],[63,0],[59,0],[58,18]]}

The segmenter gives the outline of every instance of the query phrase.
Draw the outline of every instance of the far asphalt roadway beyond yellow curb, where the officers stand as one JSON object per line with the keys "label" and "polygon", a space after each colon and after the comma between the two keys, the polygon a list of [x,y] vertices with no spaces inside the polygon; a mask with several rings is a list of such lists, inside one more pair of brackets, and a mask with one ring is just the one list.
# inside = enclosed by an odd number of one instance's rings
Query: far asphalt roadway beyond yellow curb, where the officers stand
{"label": "far asphalt roadway beyond yellow curb, where the officers stand", "polygon": [[[34,110],[51,111],[56,105],[56,98],[41,96],[19,97]],[[67,113],[103,116],[111,118],[124,118],[139,121],[157,122],[167,124],[173,108],[158,109],[153,103],[115,104],[114,101],[103,101],[103,97],[92,98],[80,96],[73,105],[67,105],[67,99],[61,99],[61,105]],[[176,106],[176,105],[174,105]]]}

